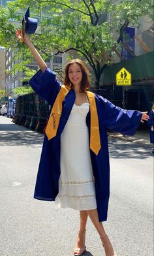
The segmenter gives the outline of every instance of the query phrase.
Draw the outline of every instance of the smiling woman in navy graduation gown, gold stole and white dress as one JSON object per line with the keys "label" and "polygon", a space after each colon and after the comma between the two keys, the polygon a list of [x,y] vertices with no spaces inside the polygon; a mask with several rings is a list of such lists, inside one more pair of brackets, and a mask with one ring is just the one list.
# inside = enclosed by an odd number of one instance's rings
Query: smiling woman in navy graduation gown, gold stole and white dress
{"label": "smiling woman in navy graduation gown, gold stole and white dress", "polygon": [[[16,36],[21,39],[20,31]],[[51,105],[40,157],[35,199],[55,200],[58,208],[80,211],[80,228],[74,255],[85,252],[85,228],[89,216],[99,232],[106,256],[115,256],[104,231],[110,190],[110,167],[106,129],[133,135],[146,112],[117,108],[103,97],[88,92],[89,71],[75,59],[65,67],[62,85],[47,68],[31,40],[25,43],[40,71],[29,84]]]}

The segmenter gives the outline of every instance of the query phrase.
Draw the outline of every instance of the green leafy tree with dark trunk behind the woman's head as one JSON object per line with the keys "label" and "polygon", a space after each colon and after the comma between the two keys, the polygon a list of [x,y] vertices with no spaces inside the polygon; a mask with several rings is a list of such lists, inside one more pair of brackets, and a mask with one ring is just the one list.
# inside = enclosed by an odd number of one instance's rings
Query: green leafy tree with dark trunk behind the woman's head
{"label": "green leafy tree with dark trunk behind the woman's head", "polygon": [[[25,8],[28,4],[29,0],[16,0],[9,3],[8,11],[13,9],[14,15],[15,7]],[[113,63],[112,56],[120,46],[125,28],[135,25],[143,15],[153,16],[151,0],[39,0],[33,1],[31,8],[47,17],[42,21],[41,35],[32,36],[38,49],[43,50],[42,55],[77,52],[91,67],[96,87],[104,69]],[[103,20],[107,13],[110,20]]]}

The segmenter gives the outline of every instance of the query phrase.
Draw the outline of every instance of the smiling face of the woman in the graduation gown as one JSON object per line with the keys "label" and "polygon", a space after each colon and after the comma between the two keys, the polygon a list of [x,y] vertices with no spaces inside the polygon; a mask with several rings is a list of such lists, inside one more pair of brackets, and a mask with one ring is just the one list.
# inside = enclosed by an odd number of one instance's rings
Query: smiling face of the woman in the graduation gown
{"label": "smiling face of the woman in the graduation gown", "polygon": [[69,80],[74,86],[80,86],[82,82],[82,69],[79,64],[69,66]]}

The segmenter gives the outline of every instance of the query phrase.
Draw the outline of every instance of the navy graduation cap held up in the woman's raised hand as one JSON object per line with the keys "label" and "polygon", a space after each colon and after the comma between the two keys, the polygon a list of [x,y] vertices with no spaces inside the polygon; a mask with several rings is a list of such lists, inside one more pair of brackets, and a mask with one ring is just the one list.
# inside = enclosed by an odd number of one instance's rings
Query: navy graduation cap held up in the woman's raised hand
{"label": "navy graduation cap held up in the woman's raised hand", "polygon": [[25,33],[34,34],[37,29],[37,19],[30,18],[29,16],[28,7],[22,20],[23,35],[25,35]]}

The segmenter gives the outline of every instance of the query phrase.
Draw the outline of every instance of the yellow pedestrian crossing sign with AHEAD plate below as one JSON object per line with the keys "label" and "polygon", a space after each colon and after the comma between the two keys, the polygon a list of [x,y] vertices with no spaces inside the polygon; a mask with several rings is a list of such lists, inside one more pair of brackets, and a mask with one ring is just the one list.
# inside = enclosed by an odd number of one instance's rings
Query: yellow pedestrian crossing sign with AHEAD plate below
{"label": "yellow pedestrian crossing sign with AHEAD plate below", "polygon": [[123,67],[119,72],[116,74],[116,85],[117,86],[131,86],[132,84],[132,77],[131,73]]}

